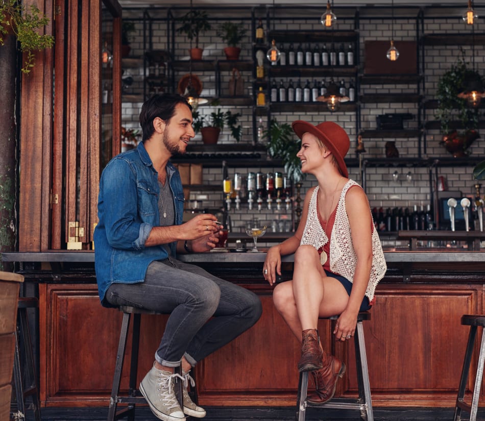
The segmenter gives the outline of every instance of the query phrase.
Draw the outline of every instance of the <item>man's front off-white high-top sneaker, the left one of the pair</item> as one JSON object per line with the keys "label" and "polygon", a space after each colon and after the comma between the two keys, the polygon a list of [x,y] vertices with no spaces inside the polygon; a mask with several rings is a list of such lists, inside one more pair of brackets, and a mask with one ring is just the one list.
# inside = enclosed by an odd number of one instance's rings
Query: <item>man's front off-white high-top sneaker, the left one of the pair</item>
{"label": "man's front off-white high-top sneaker, the left one of the pair", "polygon": [[140,383],[140,392],[150,409],[163,421],[185,421],[174,392],[173,381],[176,377],[183,380],[182,376],[159,370],[154,364]]}

